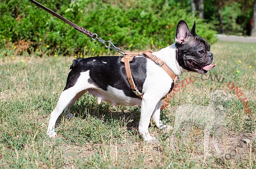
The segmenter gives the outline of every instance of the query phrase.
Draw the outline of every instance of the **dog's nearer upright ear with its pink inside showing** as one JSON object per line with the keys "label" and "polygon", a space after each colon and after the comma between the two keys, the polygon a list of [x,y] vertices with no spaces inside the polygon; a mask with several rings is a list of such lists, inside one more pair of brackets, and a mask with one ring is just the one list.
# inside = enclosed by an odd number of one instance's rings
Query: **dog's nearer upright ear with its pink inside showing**
{"label": "dog's nearer upright ear with its pink inside showing", "polygon": [[190,32],[187,23],[184,20],[180,20],[176,28],[175,42],[181,44],[188,35],[190,35]]}

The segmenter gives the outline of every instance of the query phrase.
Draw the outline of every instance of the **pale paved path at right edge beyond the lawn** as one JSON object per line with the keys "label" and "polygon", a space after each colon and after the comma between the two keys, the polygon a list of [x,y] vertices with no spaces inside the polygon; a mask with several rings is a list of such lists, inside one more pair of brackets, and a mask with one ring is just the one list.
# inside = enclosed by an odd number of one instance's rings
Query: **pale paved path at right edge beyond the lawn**
{"label": "pale paved path at right edge beyond the lawn", "polygon": [[251,36],[235,36],[235,35],[217,35],[220,41],[232,41],[232,42],[248,42],[256,43],[256,37]]}

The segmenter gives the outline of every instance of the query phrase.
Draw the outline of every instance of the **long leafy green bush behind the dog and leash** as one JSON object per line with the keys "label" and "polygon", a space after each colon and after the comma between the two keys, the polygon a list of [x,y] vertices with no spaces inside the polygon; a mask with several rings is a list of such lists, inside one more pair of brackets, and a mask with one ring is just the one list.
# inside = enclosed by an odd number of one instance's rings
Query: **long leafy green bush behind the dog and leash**
{"label": "long leafy green bush behind the dog and leash", "polygon": [[[191,28],[197,21],[198,35],[209,43],[216,42],[211,25],[194,18],[178,4],[166,1],[40,1],[104,40],[111,40],[123,50],[158,50],[174,43],[179,20]],[[29,1],[2,1],[0,6],[1,55],[16,54],[93,56],[111,54],[104,45],[79,33],[67,23],[50,15]],[[207,31],[206,31],[207,30]]]}

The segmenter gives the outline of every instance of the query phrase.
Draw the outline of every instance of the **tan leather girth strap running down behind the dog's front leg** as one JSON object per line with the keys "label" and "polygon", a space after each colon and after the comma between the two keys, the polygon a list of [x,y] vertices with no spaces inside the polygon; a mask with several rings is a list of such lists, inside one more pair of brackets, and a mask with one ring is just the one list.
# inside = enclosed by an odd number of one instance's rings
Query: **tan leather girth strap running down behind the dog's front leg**
{"label": "tan leather girth strap running down behind the dog's front leg", "polygon": [[131,73],[131,67],[130,67],[130,61],[133,60],[134,57],[136,56],[139,56],[139,55],[142,55],[142,53],[125,53],[123,55],[123,58],[121,59],[121,62],[124,62],[124,67],[125,67],[125,71],[126,71],[126,76],[127,76],[127,79],[128,79],[128,82],[131,86],[131,89],[133,90],[133,92],[139,96],[140,99],[142,99],[142,95],[143,93],[141,93],[135,83],[134,83],[134,80],[133,80],[133,76],[132,76],[132,73]]}

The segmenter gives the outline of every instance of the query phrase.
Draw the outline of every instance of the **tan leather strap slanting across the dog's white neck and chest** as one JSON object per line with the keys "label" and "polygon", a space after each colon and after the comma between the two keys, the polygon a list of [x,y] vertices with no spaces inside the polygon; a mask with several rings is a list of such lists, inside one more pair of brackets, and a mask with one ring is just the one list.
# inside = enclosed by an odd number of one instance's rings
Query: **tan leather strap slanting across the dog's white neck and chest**
{"label": "tan leather strap slanting across the dog's white neck and chest", "polygon": [[156,55],[153,55],[152,53],[153,51],[151,50],[146,50],[143,52],[144,55],[154,61],[158,66],[162,67],[164,71],[166,71],[166,73],[169,75],[169,77],[173,79],[174,83],[176,83],[178,76],[173,73],[173,71],[165,64],[162,59],[156,57]]}

